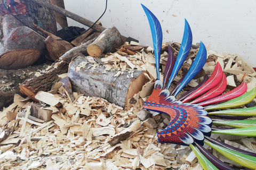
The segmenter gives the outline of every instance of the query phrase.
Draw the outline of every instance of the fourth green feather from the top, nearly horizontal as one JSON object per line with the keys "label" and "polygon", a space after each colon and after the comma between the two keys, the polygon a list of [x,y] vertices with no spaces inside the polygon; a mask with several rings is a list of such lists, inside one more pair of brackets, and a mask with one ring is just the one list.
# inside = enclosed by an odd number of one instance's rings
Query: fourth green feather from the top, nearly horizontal
{"label": "fourth green feather from the top, nearly horizontal", "polygon": [[212,131],[212,133],[231,134],[231,135],[237,135],[237,136],[243,136],[243,137],[246,137],[246,136],[256,137],[256,126],[249,127],[249,128],[217,130],[217,131]]}

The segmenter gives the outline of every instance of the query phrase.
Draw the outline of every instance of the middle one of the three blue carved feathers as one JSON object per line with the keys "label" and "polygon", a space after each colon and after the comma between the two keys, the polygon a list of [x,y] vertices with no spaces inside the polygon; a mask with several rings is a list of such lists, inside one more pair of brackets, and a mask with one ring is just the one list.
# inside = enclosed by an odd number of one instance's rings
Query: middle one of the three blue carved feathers
{"label": "middle one of the three blue carved feathers", "polygon": [[186,60],[191,46],[192,46],[192,32],[189,27],[188,21],[185,19],[185,29],[184,29],[184,33],[183,33],[183,38],[182,38],[179,54],[177,56],[177,60],[173,67],[173,71],[172,71],[172,74],[171,74],[171,77],[169,79],[166,89],[170,88],[172,81],[174,80],[176,74],[180,70],[181,65]]}

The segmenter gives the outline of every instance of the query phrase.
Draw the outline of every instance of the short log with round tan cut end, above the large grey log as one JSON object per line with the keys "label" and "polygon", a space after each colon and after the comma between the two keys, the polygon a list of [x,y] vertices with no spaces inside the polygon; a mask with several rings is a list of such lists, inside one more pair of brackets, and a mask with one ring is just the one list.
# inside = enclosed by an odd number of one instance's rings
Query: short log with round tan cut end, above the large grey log
{"label": "short log with round tan cut end, above the large grey log", "polygon": [[101,32],[100,36],[87,47],[87,53],[92,57],[99,57],[103,53],[115,52],[116,48],[123,44],[120,32],[113,26]]}

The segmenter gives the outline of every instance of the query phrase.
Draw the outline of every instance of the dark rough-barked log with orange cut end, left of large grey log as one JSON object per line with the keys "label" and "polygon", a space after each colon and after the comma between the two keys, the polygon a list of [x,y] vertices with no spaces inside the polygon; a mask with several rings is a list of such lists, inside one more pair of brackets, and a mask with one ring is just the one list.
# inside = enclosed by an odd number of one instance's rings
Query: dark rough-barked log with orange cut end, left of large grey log
{"label": "dark rough-barked log with orange cut end, left of large grey log", "polygon": [[58,60],[49,69],[43,70],[38,77],[27,79],[20,84],[20,92],[38,102],[35,95],[39,91],[50,91],[59,74],[68,72],[68,63]]}

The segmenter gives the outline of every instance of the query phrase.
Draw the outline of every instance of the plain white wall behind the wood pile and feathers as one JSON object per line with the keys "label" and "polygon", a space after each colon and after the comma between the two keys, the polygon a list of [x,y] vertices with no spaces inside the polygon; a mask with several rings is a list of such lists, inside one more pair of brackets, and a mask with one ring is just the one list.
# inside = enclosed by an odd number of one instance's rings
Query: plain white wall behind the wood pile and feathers
{"label": "plain white wall behind the wood pile and feathers", "polygon": [[[93,22],[103,13],[106,4],[105,0],[64,1],[66,10]],[[161,22],[163,41],[181,43],[186,18],[193,33],[193,44],[203,41],[218,53],[237,53],[256,67],[255,0],[108,0],[107,12],[100,20],[103,27],[115,25],[122,35],[153,47],[149,23],[140,3]],[[70,19],[68,23],[87,28]]]}

